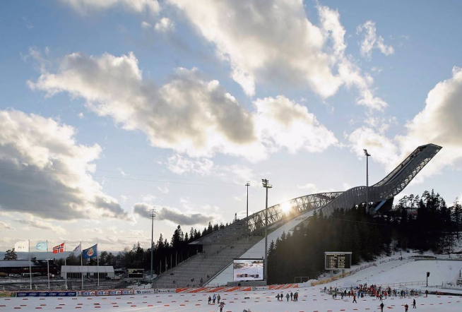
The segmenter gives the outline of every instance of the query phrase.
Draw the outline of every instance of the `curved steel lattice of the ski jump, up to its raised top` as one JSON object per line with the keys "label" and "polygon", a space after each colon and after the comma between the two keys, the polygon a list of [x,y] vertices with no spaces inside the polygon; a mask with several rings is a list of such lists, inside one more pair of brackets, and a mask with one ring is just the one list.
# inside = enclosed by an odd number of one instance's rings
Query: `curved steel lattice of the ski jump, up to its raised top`
{"label": "curved steel lattice of the ski jump, up to its raised top", "polygon": [[[442,147],[434,144],[416,148],[390,174],[373,186],[369,186],[369,203],[389,200],[412,181],[425,165],[432,160]],[[321,208],[324,215],[330,215],[338,208],[350,209],[366,202],[366,186],[357,186],[348,191],[316,193],[293,198],[284,203],[268,208],[268,227],[277,222],[293,220],[304,212]],[[288,208],[288,209],[285,209]],[[288,211],[288,212],[284,212]],[[265,210],[249,215],[249,229],[246,229],[247,218],[239,220],[218,231],[203,236],[190,244],[230,244],[244,234],[256,234],[265,229]]]}

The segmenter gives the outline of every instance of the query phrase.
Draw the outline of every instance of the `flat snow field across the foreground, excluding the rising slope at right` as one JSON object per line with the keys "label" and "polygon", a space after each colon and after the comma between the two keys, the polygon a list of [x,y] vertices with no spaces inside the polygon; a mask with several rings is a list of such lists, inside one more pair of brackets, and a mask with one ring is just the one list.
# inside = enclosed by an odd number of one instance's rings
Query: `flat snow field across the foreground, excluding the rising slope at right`
{"label": "flat snow field across the foreground, excluding the rising slope at right", "polygon": [[[357,304],[352,299],[333,300],[327,294],[321,294],[318,288],[285,289],[298,291],[298,302],[277,301],[276,291],[220,293],[225,302],[223,311],[241,312],[244,308],[252,312],[340,312],[340,311],[377,311],[379,301],[367,297],[358,299]],[[150,294],[134,296],[99,296],[76,298],[8,298],[0,299],[0,311],[184,311],[184,312],[214,312],[218,304],[208,305],[209,294]],[[245,299],[245,297],[249,299]],[[418,311],[462,311],[462,296],[429,296],[417,297]],[[412,299],[388,298],[384,299],[385,310],[404,311],[404,304],[408,304],[411,311]]]}

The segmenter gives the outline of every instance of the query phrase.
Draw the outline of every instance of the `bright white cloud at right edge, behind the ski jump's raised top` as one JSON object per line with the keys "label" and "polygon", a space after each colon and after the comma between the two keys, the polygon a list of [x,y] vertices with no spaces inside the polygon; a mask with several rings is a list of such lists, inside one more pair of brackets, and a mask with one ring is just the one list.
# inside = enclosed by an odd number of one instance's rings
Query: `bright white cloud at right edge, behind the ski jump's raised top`
{"label": "bright white cloud at right edge, behind the ski jump's raised top", "polygon": [[454,67],[452,77],[434,86],[427,95],[425,107],[405,124],[405,133],[393,139],[372,128],[357,128],[347,136],[350,148],[362,156],[362,148],[372,159],[393,169],[419,145],[434,143],[443,149],[416,177],[438,174],[447,166],[460,166],[462,160],[462,68]]}

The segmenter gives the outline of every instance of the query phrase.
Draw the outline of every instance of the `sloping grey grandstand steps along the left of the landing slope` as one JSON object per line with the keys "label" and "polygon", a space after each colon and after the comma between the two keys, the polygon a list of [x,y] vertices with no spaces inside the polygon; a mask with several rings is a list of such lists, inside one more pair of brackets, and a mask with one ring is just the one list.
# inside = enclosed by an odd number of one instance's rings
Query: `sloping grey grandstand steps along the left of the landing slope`
{"label": "sloping grey grandstand steps along the left of the landing slope", "polygon": [[176,268],[163,272],[154,282],[155,288],[199,287],[206,284],[220,270],[226,268],[232,259],[239,258],[251,246],[261,241],[261,236],[238,239],[214,253],[198,253],[179,263]]}

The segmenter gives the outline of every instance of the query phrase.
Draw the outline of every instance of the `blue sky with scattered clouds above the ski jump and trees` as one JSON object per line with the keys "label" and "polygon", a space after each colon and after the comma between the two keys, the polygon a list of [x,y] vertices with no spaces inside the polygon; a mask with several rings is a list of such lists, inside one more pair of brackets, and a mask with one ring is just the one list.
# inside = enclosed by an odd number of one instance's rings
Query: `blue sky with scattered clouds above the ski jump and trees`
{"label": "blue sky with scattered clouds above the ski jump and trees", "polygon": [[149,246],[443,149],[462,197],[458,1],[0,3],[0,250]]}

